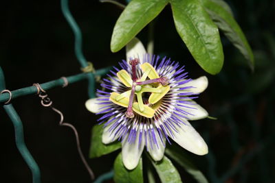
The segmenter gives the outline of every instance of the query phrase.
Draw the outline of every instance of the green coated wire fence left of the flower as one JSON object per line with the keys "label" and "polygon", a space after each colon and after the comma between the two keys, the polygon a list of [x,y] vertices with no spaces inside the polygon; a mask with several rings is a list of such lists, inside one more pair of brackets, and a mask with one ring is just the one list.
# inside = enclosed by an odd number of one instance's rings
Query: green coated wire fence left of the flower
{"label": "green coated wire fence left of the flower", "polygon": [[[93,67],[93,64],[91,64],[91,62],[87,62],[85,56],[83,55],[83,50],[82,50],[82,34],[76,21],[74,20],[74,17],[69,11],[69,2],[67,0],[61,0],[61,10],[63,12],[63,15],[65,16],[65,19],[69,23],[69,26],[72,28],[72,31],[74,32],[74,37],[75,37],[74,51],[75,51],[76,58],[81,66],[80,70],[83,71],[83,73],[65,77],[65,80],[63,78],[60,78],[58,80],[52,80],[50,82],[43,83],[41,84],[41,88],[43,88],[43,90],[49,90],[51,88],[56,88],[58,86],[64,86],[67,84],[80,82],[82,80],[88,80],[88,95],[90,98],[94,98],[96,97],[96,93],[95,93],[96,78],[102,75],[105,75],[107,72],[109,72],[110,67],[95,70]],[[25,145],[22,121],[19,115],[17,114],[17,111],[14,109],[11,103],[11,101],[13,99],[16,99],[17,97],[37,94],[39,90],[36,86],[28,86],[28,87],[20,88],[18,90],[13,90],[13,91],[7,90],[5,88],[5,79],[4,79],[4,74],[1,67],[0,67],[0,90],[2,91],[0,95],[0,103],[4,104],[3,108],[5,112],[8,114],[8,117],[10,117],[12,124],[14,125],[15,143],[17,145],[17,149],[19,150],[21,156],[23,157],[30,171],[32,172],[32,182],[40,183],[41,172],[40,172],[39,166]]]}

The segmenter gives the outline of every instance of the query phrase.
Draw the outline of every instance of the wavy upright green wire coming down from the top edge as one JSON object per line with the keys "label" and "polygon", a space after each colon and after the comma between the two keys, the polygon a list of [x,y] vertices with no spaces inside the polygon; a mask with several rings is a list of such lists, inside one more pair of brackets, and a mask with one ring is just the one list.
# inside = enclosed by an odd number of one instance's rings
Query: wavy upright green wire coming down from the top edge
{"label": "wavy upright green wire coming down from the top edge", "polygon": [[[76,54],[76,58],[80,63],[81,67],[85,68],[88,66],[88,62],[83,55],[82,51],[82,34],[80,28],[78,27],[74,17],[72,16],[71,12],[69,11],[69,3],[67,0],[61,0],[61,10],[65,19],[69,23],[69,26],[72,28],[74,32],[75,42],[74,42],[74,52]],[[95,77],[92,73],[88,73],[88,95],[90,98],[96,97],[95,88]]]}

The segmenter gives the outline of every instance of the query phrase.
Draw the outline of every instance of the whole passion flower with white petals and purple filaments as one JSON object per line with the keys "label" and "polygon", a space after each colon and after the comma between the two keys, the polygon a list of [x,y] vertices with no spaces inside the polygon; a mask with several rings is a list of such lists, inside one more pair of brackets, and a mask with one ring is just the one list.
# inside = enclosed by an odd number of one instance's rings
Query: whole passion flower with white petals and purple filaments
{"label": "whole passion flower with white petals and purple filaments", "polygon": [[153,160],[161,160],[170,139],[194,154],[207,154],[208,146],[188,122],[208,117],[192,100],[207,88],[207,77],[188,79],[184,66],[146,54],[137,38],[126,46],[126,58],[103,79],[98,98],[86,102],[89,111],[102,114],[102,143],[121,141],[122,161],[130,170],[145,146]]}

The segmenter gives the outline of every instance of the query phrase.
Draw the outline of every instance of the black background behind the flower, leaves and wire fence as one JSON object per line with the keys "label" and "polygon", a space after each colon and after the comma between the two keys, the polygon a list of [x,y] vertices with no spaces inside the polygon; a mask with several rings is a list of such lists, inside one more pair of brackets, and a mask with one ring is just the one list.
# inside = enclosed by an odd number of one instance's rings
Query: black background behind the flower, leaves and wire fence
{"label": "black background behind the flower, leaves and wire fence", "polygon": [[[208,180],[274,182],[275,3],[267,0],[228,3],[254,50],[254,73],[222,33],[223,70],[214,76],[205,73],[175,31],[170,6],[155,21],[155,53],[185,64],[192,78],[208,76],[208,89],[197,101],[218,119],[192,124],[206,139],[210,154],[203,157],[190,154]],[[84,55],[96,69],[124,59],[124,49],[118,53],[109,49],[119,8],[87,0],[69,1],[69,6],[83,32]],[[0,10],[0,63],[6,88],[15,90],[80,73],[74,55],[74,35],[61,14],[59,1],[5,1]],[[138,35],[144,44],[147,34],[145,28]],[[65,114],[65,122],[78,129],[88,157],[91,127],[97,117],[84,106],[88,99],[87,82],[54,88],[47,93],[54,106]],[[19,97],[12,103],[23,121],[25,143],[39,164],[42,182],[89,182],[74,135],[67,127],[58,125],[58,115],[43,108],[36,95]],[[0,118],[0,182],[32,182],[30,170],[15,146],[12,123],[2,108]],[[112,169],[116,154],[89,159],[97,176]],[[183,169],[178,169],[184,182],[194,181]]]}

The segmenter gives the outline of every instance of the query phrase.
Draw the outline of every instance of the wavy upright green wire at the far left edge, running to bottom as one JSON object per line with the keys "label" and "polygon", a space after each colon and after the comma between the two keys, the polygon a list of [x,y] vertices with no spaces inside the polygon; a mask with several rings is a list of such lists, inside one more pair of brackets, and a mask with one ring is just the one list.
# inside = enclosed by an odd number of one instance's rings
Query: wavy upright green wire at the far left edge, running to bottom
{"label": "wavy upright green wire at the far left edge, running to bottom", "polygon": [[[5,79],[3,75],[3,71],[0,67],[0,90],[5,90]],[[21,153],[21,156],[28,164],[30,171],[32,171],[32,182],[40,183],[41,182],[41,175],[39,166],[36,164],[34,158],[30,154],[30,151],[25,145],[24,141],[24,132],[23,132],[23,125],[19,115],[17,114],[16,110],[14,110],[12,104],[8,104],[3,106],[5,112],[7,112],[8,116],[10,117],[12,124],[14,125],[14,134],[15,134],[15,143],[17,145],[17,149]]]}

